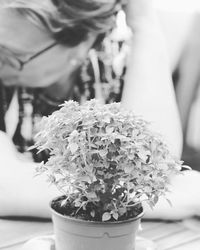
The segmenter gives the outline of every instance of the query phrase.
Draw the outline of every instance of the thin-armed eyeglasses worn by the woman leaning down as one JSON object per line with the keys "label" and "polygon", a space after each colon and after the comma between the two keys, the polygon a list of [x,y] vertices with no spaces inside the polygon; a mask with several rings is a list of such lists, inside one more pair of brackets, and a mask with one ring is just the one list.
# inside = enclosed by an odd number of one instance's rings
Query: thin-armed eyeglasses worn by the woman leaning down
{"label": "thin-armed eyeglasses worn by the woman leaning down", "polygon": [[15,68],[16,70],[22,71],[24,66],[31,62],[33,59],[39,57],[46,51],[50,50],[51,48],[55,47],[57,45],[57,42],[54,42],[50,44],[48,47],[38,51],[36,54],[32,55],[27,60],[21,60],[19,59],[14,52],[10,51],[4,46],[0,45],[0,69],[2,69],[5,65],[10,65],[12,68]]}

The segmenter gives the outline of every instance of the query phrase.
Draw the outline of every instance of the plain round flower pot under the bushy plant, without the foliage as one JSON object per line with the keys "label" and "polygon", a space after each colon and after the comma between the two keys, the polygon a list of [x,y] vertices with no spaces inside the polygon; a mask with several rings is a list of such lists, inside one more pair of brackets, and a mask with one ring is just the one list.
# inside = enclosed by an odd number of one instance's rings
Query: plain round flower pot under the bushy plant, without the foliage
{"label": "plain round flower pot under the bushy plant, without the foliage", "polygon": [[134,250],[143,212],[127,221],[94,222],[63,216],[53,208],[56,250]]}

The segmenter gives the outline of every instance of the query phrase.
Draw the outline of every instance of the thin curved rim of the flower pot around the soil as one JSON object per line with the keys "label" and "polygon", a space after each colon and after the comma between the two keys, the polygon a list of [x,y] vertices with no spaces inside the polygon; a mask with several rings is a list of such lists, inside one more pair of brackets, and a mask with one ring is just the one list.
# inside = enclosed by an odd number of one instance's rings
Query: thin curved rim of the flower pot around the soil
{"label": "thin curved rim of the flower pot around the soil", "polygon": [[49,206],[50,206],[50,209],[51,209],[51,212],[52,214],[55,214],[56,216],[62,218],[62,219],[67,219],[69,221],[72,221],[72,222],[76,222],[76,223],[83,223],[83,224],[99,224],[99,225],[114,225],[114,224],[126,224],[126,223],[130,223],[132,221],[136,221],[140,218],[142,218],[144,216],[144,208],[142,206],[142,212],[139,213],[136,217],[133,217],[133,218],[130,218],[130,219],[127,219],[127,220],[123,220],[123,221],[90,221],[90,220],[83,220],[83,219],[78,219],[78,218],[74,218],[74,217],[71,217],[71,216],[68,216],[68,215],[62,215],[60,214],[59,212],[55,211],[54,208],[52,208],[52,202],[57,200],[58,198],[60,198],[62,196],[57,196],[55,197],[54,199],[52,199],[50,202],[49,202]]}

